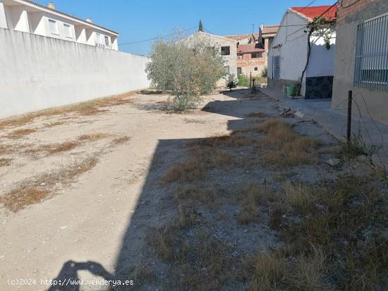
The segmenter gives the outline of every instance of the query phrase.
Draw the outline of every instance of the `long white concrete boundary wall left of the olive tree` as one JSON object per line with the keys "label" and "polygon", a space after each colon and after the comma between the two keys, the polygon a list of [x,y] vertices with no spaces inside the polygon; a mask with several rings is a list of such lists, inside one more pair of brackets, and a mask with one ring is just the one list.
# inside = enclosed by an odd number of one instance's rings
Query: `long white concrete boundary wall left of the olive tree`
{"label": "long white concrete boundary wall left of the olive tree", "polygon": [[149,58],[0,28],[0,118],[150,85]]}

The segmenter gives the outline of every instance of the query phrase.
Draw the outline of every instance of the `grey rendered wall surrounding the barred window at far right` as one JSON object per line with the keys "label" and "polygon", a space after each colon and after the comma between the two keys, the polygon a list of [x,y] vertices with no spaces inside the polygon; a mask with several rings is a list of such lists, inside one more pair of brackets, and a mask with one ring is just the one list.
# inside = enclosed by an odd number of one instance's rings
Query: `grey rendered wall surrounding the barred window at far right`
{"label": "grey rendered wall surrounding the barred window at far right", "polygon": [[[339,5],[339,20],[337,21],[337,48],[333,82],[332,108],[346,108],[348,90],[353,90],[353,97],[360,107],[361,114],[388,124],[388,92],[353,87],[353,75],[356,52],[357,25],[365,20],[388,12],[386,0],[360,0]],[[345,3],[345,2],[344,2]],[[365,101],[365,102],[364,102]],[[353,102],[353,113],[358,114]]]}

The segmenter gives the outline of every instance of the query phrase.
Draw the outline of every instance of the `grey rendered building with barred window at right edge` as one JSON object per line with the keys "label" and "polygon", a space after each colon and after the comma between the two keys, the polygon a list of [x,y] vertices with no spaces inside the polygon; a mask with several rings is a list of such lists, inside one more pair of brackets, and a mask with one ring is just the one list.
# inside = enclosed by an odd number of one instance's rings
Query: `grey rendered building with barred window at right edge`
{"label": "grey rendered building with barred window at right edge", "polygon": [[338,2],[333,109],[346,104],[349,90],[353,113],[388,124],[387,0]]}

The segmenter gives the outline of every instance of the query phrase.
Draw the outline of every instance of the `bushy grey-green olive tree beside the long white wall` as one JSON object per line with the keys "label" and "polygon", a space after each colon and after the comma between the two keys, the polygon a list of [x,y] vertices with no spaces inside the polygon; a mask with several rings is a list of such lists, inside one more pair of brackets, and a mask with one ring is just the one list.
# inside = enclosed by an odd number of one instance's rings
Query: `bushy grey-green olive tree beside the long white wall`
{"label": "bushy grey-green olive tree beside the long white wall", "polygon": [[223,65],[217,49],[202,41],[158,41],[152,46],[146,72],[152,85],[174,95],[174,111],[186,111],[215,88],[224,76]]}

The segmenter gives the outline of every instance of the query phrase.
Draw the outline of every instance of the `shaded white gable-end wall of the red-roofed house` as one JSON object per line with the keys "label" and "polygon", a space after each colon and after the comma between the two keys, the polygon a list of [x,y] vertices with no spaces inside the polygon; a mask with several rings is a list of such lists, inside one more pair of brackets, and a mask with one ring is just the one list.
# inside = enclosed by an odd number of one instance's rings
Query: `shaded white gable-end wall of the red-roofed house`
{"label": "shaded white gable-end wall of the red-roofed house", "polygon": [[[308,20],[293,11],[284,14],[279,30],[268,52],[268,78],[272,79],[272,57],[280,56],[280,80],[298,81],[307,60],[307,33],[303,25]],[[292,26],[295,25],[295,26]],[[277,48],[275,48],[277,47]],[[305,77],[301,87],[301,94],[305,92]]]}

